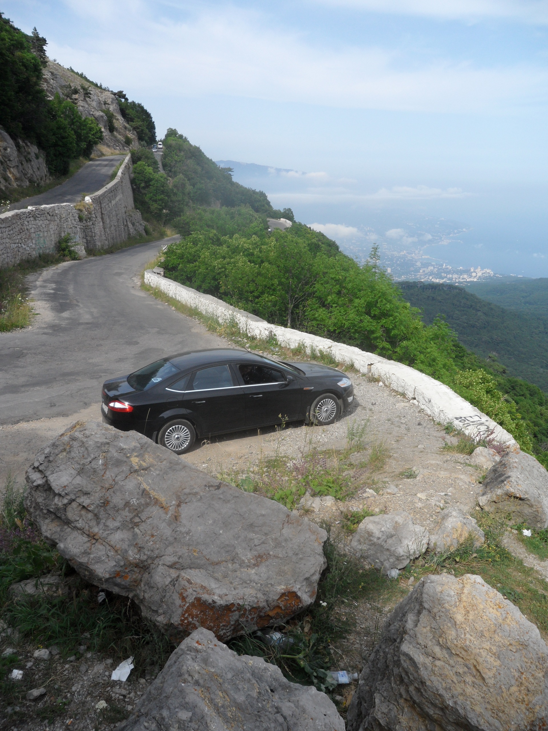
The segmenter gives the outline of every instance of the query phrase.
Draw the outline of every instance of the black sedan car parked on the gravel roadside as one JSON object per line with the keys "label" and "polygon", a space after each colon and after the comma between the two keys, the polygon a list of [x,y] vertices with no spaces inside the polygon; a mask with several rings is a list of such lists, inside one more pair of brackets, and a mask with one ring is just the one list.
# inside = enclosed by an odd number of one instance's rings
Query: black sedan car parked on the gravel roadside
{"label": "black sedan car parked on the gravel roadside", "polygon": [[351,380],[335,368],[210,349],[105,381],[101,408],[107,424],[183,454],[197,437],[298,420],[331,424],[353,398]]}

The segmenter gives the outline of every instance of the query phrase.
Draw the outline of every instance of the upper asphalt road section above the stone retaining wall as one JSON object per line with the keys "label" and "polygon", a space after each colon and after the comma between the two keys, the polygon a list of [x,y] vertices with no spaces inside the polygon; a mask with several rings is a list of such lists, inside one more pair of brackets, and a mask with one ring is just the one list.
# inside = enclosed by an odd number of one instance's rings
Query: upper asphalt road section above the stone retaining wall
{"label": "upper asphalt road section above the stone retaining wall", "polygon": [[121,162],[125,155],[113,155],[109,157],[101,157],[98,160],[91,160],[72,175],[61,185],[56,188],[34,195],[31,198],[25,198],[7,208],[8,211],[18,211],[20,208],[26,208],[28,205],[50,205],[52,203],[77,203],[82,198],[82,194],[89,195],[96,193],[110,182],[116,165]]}

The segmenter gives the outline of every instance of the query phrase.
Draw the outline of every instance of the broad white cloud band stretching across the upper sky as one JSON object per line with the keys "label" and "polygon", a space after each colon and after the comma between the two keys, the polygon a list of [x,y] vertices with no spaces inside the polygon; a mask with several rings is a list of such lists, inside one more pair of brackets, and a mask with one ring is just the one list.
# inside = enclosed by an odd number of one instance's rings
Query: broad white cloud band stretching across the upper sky
{"label": "broad white cloud band stretching across the upper sky", "polygon": [[[103,83],[112,79],[110,83],[123,88],[146,89],[159,96],[222,94],[444,113],[493,112],[548,98],[548,70],[541,66],[476,67],[444,58],[410,63],[399,49],[326,46],[281,23],[276,26],[259,10],[234,6],[212,10],[196,4],[196,10],[180,11],[180,20],[164,20],[144,0],[115,4],[66,0],[66,4],[93,32],[87,43],[81,37],[74,45],[70,37],[66,45],[51,39],[52,56],[88,69]],[[120,34],[127,18],[131,33]],[[275,42],[265,42],[265,28]]]}

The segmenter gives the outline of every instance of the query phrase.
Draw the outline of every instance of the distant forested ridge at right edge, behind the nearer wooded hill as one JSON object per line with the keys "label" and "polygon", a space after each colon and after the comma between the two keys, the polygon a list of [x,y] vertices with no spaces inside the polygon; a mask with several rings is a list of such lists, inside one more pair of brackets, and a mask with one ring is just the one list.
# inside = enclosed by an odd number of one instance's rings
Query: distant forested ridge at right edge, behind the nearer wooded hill
{"label": "distant forested ridge at right edge, behind the nearer wooded hill", "polygon": [[514,279],[498,282],[481,281],[470,284],[469,292],[509,310],[536,315],[548,321],[548,279]]}

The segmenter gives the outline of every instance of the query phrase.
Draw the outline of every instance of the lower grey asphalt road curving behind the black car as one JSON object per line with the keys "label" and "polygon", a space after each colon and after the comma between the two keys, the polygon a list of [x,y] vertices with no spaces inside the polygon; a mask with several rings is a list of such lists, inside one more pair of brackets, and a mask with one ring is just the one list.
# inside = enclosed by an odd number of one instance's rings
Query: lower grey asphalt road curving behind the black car
{"label": "lower grey asphalt road curving behind the black car", "polygon": [[172,240],[34,276],[39,315],[31,327],[0,333],[0,424],[75,414],[101,401],[104,379],[165,355],[226,346],[140,289],[141,270]]}

